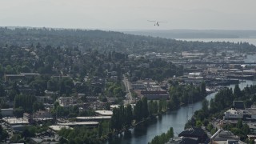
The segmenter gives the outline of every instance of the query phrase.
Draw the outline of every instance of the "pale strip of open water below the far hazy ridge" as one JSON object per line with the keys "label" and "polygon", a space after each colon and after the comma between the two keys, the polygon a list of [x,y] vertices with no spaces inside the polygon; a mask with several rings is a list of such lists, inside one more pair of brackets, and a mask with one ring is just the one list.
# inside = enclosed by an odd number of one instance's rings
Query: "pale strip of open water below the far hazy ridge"
{"label": "pale strip of open water below the far hazy ridge", "polygon": [[176,38],[182,41],[192,42],[248,42],[256,46],[256,38]]}

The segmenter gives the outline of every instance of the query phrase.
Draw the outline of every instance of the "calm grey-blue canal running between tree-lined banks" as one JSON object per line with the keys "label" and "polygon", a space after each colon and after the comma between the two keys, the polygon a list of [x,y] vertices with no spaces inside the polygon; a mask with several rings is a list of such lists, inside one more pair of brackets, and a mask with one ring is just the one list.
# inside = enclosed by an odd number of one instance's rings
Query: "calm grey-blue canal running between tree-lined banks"
{"label": "calm grey-blue canal running between tree-lined banks", "polygon": [[[246,80],[245,82],[240,82],[239,87],[242,90],[246,86],[255,85],[256,81]],[[227,86],[234,89],[234,85]],[[210,100],[214,98],[214,95],[217,92],[208,94],[206,99]],[[193,107],[193,110],[191,109]],[[166,112],[166,114],[162,114],[162,118],[158,118],[155,122],[148,124],[147,126],[143,126],[142,128],[134,128],[130,130],[129,136],[122,136],[114,139],[112,142],[108,143],[148,143],[150,142],[156,135],[160,135],[162,133],[166,133],[170,127],[174,128],[174,134],[178,135],[182,130],[184,130],[184,126],[186,123],[186,116],[190,119],[192,114],[196,110],[200,110],[202,108],[202,102],[195,102],[191,106],[182,106],[180,109],[175,111]],[[187,113],[188,111],[188,113]]]}

